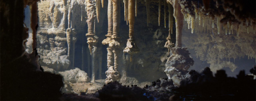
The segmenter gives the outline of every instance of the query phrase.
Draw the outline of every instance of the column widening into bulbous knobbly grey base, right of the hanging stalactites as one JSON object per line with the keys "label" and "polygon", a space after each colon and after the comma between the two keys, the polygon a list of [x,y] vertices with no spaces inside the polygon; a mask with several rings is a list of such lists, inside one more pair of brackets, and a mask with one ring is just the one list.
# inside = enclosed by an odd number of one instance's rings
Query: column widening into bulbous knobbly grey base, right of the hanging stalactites
{"label": "column widening into bulbous knobbly grey base, right of the hanging stalactites", "polygon": [[[168,58],[165,64],[164,72],[167,74],[168,80],[173,80],[175,86],[180,86],[180,81],[185,79],[184,76],[188,72],[190,65],[194,64],[193,59],[189,56],[189,52],[186,47],[182,47],[181,37],[182,37],[182,27],[183,27],[183,19],[184,16],[181,13],[181,6],[178,0],[169,1],[173,5],[173,17],[175,17],[175,25],[176,25],[176,46],[170,48],[172,50],[172,55]],[[170,4],[169,6],[169,13]],[[169,22],[170,21],[169,15]],[[169,35],[171,33],[171,26],[169,23]]]}

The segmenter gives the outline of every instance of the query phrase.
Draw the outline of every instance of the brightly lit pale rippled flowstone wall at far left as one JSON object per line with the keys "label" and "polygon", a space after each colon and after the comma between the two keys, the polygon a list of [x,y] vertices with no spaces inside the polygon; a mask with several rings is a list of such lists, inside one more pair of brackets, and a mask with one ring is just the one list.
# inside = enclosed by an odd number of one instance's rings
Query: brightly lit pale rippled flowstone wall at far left
{"label": "brightly lit pale rippled flowstone wall at far left", "polygon": [[51,0],[37,3],[39,63],[55,70],[74,68],[76,34],[83,32],[86,24],[86,20],[83,20],[86,14],[82,13],[85,11],[85,2],[66,2]]}

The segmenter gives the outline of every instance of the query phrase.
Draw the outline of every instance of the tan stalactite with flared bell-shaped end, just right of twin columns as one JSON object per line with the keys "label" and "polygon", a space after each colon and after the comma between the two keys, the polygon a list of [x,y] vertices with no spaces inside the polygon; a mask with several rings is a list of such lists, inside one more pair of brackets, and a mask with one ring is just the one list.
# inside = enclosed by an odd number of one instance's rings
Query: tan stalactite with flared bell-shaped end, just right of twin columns
{"label": "tan stalactite with flared bell-shaped end, just right of twin columns", "polygon": [[[133,39],[134,34],[134,20],[135,20],[135,2],[134,0],[129,0],[129,39],[126,43],[126,48],[123,50],[124,53],[130,54],[130,59],[132,58],[132,55],[135,53],[138,53],[139,49]],[[130,60],[131,61],[131,60]]]}

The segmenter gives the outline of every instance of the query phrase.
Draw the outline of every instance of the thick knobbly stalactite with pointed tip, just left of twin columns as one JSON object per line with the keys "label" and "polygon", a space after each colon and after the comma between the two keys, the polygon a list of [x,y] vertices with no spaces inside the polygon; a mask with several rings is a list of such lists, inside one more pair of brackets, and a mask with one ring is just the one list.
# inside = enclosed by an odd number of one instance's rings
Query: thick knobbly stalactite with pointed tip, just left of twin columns
{"label": "thick knobbly stalactite with pointed tip, just left of twin columns", "polygon": [[95,19],[95,1],[94,0],[86,0],[86,10],[87,10],[87,25],[88,25],[88,33],[87,36],[87,43],[89,44],[90,54],[92,54],[93,45],[97,43],[97,39],[94,37],[95,34],[93,33],[94,30],[94,19]]}

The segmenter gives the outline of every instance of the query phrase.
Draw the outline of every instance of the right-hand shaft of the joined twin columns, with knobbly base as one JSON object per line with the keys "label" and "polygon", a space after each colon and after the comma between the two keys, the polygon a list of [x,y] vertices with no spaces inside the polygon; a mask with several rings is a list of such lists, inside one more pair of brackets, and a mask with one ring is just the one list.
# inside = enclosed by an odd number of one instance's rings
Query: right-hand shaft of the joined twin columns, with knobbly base
{"label": "right-hand shaft of the joined twin columns, with knobbly base", "polygon": [[[120,27],[120,0],[112,0],[113,3],[113,36],[109,43],[109,47],[113,49],[114,53],[114,67],[110,66],[107,73],[107,78],[105,83],[113,82],[120,79],[120,74],[118,69],[119,64],[119,53],[120,53],[120,37],[119,37],[119,27]],[[126,2],[127,3],[127,2]],[[135,9],[135,7],[134,7]],[[127,20],[127,19],[126,19]]]}

